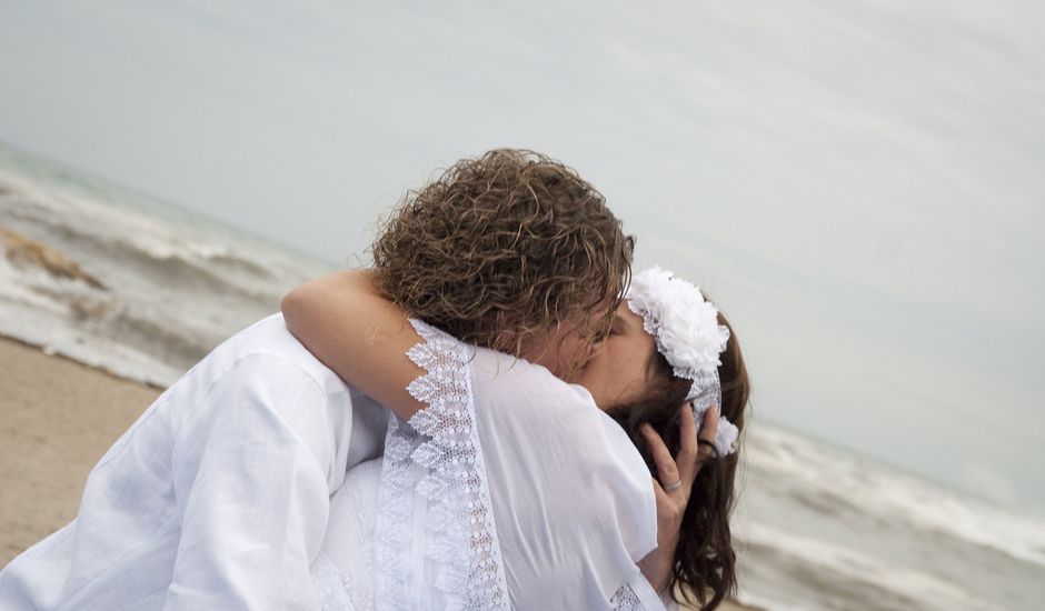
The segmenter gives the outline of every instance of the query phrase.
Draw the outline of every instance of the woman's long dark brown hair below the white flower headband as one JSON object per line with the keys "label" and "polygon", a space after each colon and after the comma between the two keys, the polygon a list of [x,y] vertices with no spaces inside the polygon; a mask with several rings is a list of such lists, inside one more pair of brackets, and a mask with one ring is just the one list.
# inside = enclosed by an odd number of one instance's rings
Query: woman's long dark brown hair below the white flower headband
{"label": "woman's long dark brown hair below the white flower headband", "polygon": [[[743,431],[750,381],[729,321],[719,313],[718,322],[729,328],[729,341],[718,368],[721,414]],[[637,401],[615,407],[607,413],[628,431],[650,471],[656,473],[653,455],[639,427],[646,422],[653,425],[675,455],[679,448],[678,407],[689,392],[690,381],[676,378],[671,365],[659,352],[654,352],[654,359],[650,390]],[[701,609],[715,609],[726,595],[736,591],[736,554],[729,531],[729,513],[733,511],[739,455],[739,450],[727,457],[714,455],[713,450],[713,457],[705,461],[690,489],[669,583],[671,595],[679,603],[684,602],[677,600],[680,591],[686,603],[691,604],[696,599]]]}

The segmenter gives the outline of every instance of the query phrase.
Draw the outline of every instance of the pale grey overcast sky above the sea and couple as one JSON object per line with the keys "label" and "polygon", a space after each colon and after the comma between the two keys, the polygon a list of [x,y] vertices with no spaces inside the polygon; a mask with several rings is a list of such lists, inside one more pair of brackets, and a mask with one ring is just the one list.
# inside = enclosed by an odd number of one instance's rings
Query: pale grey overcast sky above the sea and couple
{"label": "pale grey overcast sky above the sea and couple", "polygon": [[1045,515],[1045,8],[0,1],[0,140],[345,264],[537,149],[705,288],[756,422]]}

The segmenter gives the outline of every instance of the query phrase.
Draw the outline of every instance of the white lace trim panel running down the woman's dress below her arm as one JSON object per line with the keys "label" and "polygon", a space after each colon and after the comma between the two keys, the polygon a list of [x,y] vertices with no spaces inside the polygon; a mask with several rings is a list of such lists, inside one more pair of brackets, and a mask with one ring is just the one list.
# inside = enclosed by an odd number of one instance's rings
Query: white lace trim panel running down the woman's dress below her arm
{"label": "white lace trim panel running down the woman's dress below her arm", "polygon": [[[415,512],[424,511],[426,558],[436,588],[455,610],[509,607],[486,467],[476,429],[468,347],[411,320],[425,340],[407,352],[426,371],[407,390],[426,403],[409,421],[392,418],[385,441],[375,554],[379,593],[388,609],[418,609],[411,550]],[[419,509],[420,495],[428,507]],[[431,601],[427,601],[430,604]]]}

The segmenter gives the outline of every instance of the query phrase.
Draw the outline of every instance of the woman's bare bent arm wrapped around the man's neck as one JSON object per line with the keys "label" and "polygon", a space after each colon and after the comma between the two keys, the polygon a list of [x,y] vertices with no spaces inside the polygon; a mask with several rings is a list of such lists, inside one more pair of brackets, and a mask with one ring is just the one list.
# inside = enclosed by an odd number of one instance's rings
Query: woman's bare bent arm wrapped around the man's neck
{"label": "woman's bare bent arm wrapped around the man's neck", "polygon": [[406,355],[422,340],[368,270],[302,284],[283,298],[282,311],[293,337],[346,382],[402,419],[425,407],[406,390],[425,373]]}

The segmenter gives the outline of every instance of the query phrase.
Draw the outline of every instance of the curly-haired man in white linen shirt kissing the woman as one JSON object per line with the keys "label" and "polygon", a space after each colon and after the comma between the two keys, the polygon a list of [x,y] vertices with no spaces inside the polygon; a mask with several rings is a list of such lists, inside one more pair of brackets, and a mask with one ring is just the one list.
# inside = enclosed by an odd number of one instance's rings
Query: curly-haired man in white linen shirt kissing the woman
{"label": "curly-haired man in white linen shirt kissing the woman", "polygon": [[[605,332],[630,253],[575,172],[497,150],[408,194],[375,269],[416,315],[561,372]],[[380,453],[386,418],[266,319],[113,444],[76,520],[0,573],[0,608],[312,608],[329,497]]]}

